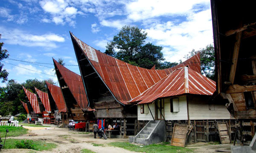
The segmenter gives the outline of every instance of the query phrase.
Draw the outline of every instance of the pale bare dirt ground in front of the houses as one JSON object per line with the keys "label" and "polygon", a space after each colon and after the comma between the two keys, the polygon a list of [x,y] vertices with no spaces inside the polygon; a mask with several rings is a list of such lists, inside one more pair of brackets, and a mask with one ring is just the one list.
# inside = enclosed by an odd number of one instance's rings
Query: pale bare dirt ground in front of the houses
{"label": "pale bare dirt ground in front of the houses", "polygon": [[[53,150],[31,151],[27,149],[2,149],[3,153],[80,153],[81,149],[90,149],[96,153],[136,153],[119,147],[108,146],[109,142],[128,142],[128,139],[97,139],[93,138],[93,133],[82,133],[79,131],[70,131],[66,128],[58,127],[28,127],[29,133],[23,136],[12,137],[13,139],[31,139],[45,140],[55,143],[58,146]],[[6,140],[8,141],[8,140]],[[103,146],[93,146],[92,143],[104,144]],[[189,144],[186,147],[196,148],[195,153],[214,153],[216,149],[230,150],[231,144],[207,144],[197,143]]]}

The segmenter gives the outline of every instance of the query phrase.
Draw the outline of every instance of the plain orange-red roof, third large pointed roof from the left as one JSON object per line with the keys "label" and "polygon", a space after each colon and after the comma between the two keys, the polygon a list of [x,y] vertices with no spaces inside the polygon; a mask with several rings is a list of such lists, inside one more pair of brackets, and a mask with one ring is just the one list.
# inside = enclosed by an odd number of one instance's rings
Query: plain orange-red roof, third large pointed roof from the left
{"label": "plain orange-red roof, third large pointed roof from the left", "polygon": [[67,107],[66,107],[63,95],[61,93],[61,88],[53,84],[50,84],[47,81],[45,82],[46,82],[47,88],[50,91],[50,93],[48,94],[52,95],[52,98],[55,101],[55,104],[58,108],[58,112],[67,112]]}

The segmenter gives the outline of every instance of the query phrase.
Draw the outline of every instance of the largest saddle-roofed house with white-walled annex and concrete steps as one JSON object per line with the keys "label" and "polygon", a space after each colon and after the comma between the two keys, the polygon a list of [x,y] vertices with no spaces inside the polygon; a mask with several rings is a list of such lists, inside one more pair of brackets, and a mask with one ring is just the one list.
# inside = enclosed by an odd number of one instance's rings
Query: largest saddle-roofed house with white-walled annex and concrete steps
{"label": "largest saddle-roofed house with white-walled annex and concrete steps", "polygon": [[[206,122],[211,125],[208,120],[230,119],[223,104],[207,104],[215,91],[215,82],[200,74],[199,54],[169,69],[144,69],[108,56],[72,33],[70,35],[90,107],[96,109],[96,118],[117,118],[129,125],[138,120],[129,128],[134,128],[134,134],[140,131],[140,124],[143,127],[150,120],[166,120],[169,138],[175,121],[189,124],[193,120],[196,126]],[[141,103],[137,107],[138,102]],[[122,122],[121,127],[128,128]],[[128,132],[123,128],[121,133],[125,130]],[[215,140],[216,132],[203,134],[204,130],[196,134],[198,137],[194,141]]]}

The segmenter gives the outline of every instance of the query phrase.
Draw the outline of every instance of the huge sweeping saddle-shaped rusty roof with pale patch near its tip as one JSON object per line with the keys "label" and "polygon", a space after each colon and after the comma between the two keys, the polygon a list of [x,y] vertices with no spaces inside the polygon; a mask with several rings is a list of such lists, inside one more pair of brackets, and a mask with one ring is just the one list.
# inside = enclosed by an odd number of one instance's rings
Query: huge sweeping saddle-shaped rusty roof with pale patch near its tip
{"label": "huge sweeping saddle-shaped rusty roof with pale patch near its tip", "polygon": [[128,104],[128,101],[145,92],[177,68],[189,66],[196,72],[201,70],[199,54],[169,69],[145,69],[106,55],[82,42],[72,33],[70,35],[115,98],[123,104]]}

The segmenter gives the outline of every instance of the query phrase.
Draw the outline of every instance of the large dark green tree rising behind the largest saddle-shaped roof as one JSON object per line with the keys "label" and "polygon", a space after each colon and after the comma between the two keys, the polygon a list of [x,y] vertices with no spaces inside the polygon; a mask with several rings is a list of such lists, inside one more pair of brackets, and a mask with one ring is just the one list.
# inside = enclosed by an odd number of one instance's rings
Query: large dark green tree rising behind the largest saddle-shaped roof
{"label": "large dark green tree rising behind the largest saddle-shaped roof", "polygon": [[[163,47],[145,43],[147,33],[135,26],[124,26],[121,31],[107,43],[105,54],[129,64],[150,69],[164,61]],[[118,50],[118,51],[116,51]],[[158,67],[157,67],[158,68]]]}

